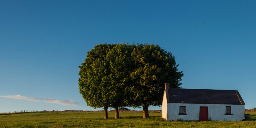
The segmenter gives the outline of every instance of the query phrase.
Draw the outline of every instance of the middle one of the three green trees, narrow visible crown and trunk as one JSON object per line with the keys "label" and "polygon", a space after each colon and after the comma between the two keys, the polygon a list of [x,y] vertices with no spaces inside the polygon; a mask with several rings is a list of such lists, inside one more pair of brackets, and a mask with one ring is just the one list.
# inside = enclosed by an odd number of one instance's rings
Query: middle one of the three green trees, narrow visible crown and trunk
{"label": "middle one of the three green trees, narrow visible crown and trunk", "polygon": [[119,118],[119,107],[127,106],[125,100],[130,93],[129,85],[131,84],[130,74],[131,67],[131,53],[135,45],[130,44],[116,44],[107,53],[106,60],[109,62],[109,76],[106,81],[110,83],[110,97],[111,106],[115,108],[115,118]]}

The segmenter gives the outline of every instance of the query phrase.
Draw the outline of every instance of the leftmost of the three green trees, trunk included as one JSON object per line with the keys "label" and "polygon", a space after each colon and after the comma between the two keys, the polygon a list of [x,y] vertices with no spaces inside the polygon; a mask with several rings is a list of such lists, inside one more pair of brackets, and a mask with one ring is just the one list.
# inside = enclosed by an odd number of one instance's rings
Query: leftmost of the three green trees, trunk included
{"label": "leftmost of the three green trees, trunk included", "polygon": [[104,77],[109,75],[109,63],[105,60],[106,54],[115,44],[99,44],[87,52],[86,59],[80,68],[78,79],[79,92],[83,99],[93,108],[104,107],[104,119],[108,119],[110,106],[109,83]]}

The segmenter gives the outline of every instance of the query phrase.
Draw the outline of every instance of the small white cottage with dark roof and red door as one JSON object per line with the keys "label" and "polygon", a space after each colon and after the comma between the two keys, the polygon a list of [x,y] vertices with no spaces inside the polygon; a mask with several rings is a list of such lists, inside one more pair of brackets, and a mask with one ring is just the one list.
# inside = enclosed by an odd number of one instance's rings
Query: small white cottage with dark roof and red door
{"label": "small white cottage with dark roof and red door", "polygon": [[237,90],[180,89],[165,83],[162,118],[167,121],[241,121],[244,100]]}

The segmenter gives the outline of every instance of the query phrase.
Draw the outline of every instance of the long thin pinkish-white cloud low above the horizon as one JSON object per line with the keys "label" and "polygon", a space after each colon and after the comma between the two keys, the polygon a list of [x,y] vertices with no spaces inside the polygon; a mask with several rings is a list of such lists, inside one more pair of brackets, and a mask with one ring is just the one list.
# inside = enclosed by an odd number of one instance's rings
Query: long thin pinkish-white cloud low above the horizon
{"label": "long thin pinkish-white cloud low above the horizon", "polygon": [[44,101],[47,103],[57,103],[61,105],[75,105],[78,106],[79,103],[76,101],[72,100],[65,100],[65,101],[60,101],[54,98],[48,98],[48,99],[42,99],[42,98],[34,98],[34,97],[25,97],[21,95],[12,95],[12,96],[0,96],[0,97],[5,97],[5,98],[13,98],[13,99],[23,99],[23,100],[29,100],[29,101]]}

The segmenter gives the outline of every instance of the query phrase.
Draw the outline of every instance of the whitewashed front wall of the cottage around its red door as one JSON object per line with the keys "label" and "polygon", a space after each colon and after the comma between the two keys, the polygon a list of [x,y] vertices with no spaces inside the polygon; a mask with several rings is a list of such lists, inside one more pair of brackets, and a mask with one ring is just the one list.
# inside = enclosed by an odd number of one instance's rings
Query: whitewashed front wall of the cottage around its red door
{"label": "whitewashed front wall of the cottage around its red door", "polygon": [[[164,118],[166,117],[164,115],[166,108],[163,106],[162,117]],[[180,106],[186,106],[187,115],[179,115]],[[176,121],[177,119],[182,119],[183,121],[197,121],[199,120],[200,106],[208,107],[208,119],[212,121],[241,121],[244,119],[244,105],[168,103],[167,120]],[[225,115],[226,106],[231,106],[231,114],[233,115]]]}

